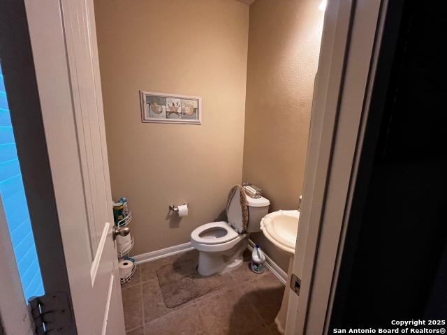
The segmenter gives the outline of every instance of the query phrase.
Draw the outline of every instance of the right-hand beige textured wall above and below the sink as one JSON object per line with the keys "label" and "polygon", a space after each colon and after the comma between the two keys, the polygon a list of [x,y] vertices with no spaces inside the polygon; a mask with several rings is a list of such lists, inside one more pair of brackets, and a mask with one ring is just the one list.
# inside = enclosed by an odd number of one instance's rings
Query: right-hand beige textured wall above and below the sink
{"label": "right-hand beige textured wall above and below the sink", "polygon": [[[256,0],[250,6],[242,179],[263,188],[270,211],[298,207],[323,27],[320,2]],[[251,239],[287,269],[287,258],[262,232]]]}

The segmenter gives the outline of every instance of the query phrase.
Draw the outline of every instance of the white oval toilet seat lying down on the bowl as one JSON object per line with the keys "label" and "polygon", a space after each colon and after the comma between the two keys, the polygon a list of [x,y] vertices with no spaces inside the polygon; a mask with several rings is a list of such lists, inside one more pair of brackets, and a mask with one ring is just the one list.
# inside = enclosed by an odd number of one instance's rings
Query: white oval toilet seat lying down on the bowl
{"label": "white oval toilet seat lying down on the bowl", "polygon": [[191,239],[200,244],[219,244],[231,241],[239,234],[225,221],[205,223],[191,232]]}

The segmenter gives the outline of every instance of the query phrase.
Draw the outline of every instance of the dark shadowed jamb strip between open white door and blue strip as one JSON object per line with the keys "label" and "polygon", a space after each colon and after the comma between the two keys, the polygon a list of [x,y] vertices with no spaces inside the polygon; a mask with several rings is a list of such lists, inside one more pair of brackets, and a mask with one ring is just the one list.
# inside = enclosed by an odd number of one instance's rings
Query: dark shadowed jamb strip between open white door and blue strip
{"label": "dark shadowed jamb strip between open white door and blue strip", "polygon": [[45,292],[65,292],[73,311],[24,1],[0,2],[0,57]]}

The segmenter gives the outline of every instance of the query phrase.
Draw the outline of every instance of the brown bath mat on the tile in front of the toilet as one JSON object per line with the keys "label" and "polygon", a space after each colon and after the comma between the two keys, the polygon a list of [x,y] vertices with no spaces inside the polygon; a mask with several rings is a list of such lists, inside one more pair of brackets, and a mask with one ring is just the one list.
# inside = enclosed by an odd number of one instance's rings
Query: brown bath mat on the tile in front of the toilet
{"label": "brown bath mat on the tile in front of the toilet", "polygon": [[225,285],[220,274],[203,277],[196,268],[195,260],[184,260],[163,265],[156,271],[166,307],[174,308]]}

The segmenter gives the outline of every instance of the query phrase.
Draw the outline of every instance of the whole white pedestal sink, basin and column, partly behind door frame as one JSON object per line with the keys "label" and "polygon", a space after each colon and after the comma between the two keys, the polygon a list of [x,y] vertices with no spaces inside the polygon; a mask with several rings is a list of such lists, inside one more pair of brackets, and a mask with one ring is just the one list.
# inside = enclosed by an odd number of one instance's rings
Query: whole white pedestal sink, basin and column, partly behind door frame
{"label": "whole white pedestal sink, basin and column, partly behind door frame", "polygon": [[287,305],[290,295],[288,283],[291,281],[293,256],[295,255],[296,237],[298,234],[299,211],[274,211],[261,220],[261,230],[265,237],[280,251],[288,255],[287,283],[282,297],[281,308],[274,319],[278,332],[284,334],[286,329]]}

